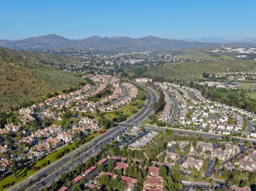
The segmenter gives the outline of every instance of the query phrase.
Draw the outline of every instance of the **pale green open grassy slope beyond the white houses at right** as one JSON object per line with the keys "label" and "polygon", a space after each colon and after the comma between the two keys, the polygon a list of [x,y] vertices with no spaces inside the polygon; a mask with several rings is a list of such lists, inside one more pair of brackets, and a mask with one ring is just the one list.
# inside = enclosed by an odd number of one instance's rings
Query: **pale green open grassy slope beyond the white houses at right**
{"label": "pale green open grassy slope beyond the white houses at right", "polygon": [[167,77],[192,80],[195,78],[202,79],[203,71],[210,74],[226,71],[252,71],[255,67],[256,62],[249,60],[170,63],[169,65],[153,66],[141,74],[140,77]]}

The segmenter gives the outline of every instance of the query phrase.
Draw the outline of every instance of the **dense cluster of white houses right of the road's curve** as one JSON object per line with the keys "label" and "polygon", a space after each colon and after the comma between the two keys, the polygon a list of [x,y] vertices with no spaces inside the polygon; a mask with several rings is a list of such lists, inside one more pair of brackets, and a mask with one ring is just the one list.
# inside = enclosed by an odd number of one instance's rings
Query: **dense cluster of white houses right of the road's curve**
{"label": "dense cluster of white houses right of the road's curve", "polygon": [[177,123],[181,126],[196,127],[197,130],[210,133],[256,138],[253,133],[256,115],[252,112],[206,99],[194,88],[173,83],[164,83],[163,87],[173,93],[179,103]]}

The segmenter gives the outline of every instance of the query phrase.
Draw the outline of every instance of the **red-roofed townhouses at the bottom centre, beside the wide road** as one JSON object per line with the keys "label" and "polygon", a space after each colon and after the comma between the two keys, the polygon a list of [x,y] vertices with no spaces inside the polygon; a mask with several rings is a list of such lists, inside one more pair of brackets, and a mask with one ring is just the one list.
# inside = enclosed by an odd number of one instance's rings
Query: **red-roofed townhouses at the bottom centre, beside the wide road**
{"label": "red-roofed townhouses at the bottom centre, beside the wide road", "polygon": [[[98,173],[97,166],[103,165],[103,169],[105,170],[107,168],[107,164],[110,161],[109,158],[102,158],[100,159],[95,166],[90,166],[86,171],[83,172],[82,175],[78,175],[71,181],[71,186],[63,186],[59,189],[59,191],[67,190],[72,188],[73,184],[75,183],[81,183],[82,179],[85,179],[87,183],[84,184],[85,188],[93,189],[96,188],[96,190],[104,190],[104,185],[100,184],[99,178],[101,176],[108,176],[109,178],[115,179],[118,178],[119,180],[124,182],[124,190],[126,191],[132,191],[135,189],[135,187],[138,184],[138,180],[134,177],[129,177],[127,175],[127,170],[130,167],[136,168],[137,170],[145,169],[147,172],[147,175],[145,177],[145,180],[143,182],[143,191],[148,190],[157,190],[157,191],[163,191],[163,177],[160,176],[160,167],[162,165],[166,165],[164,163],[160,162],[150,162],[148,166],[143,166],[142,163],[145,164],[145,160],[142,159],[128,159],[126,157],[119,157],[119,156],[113,156],[111,157],[114,168],[113,172],[106,172],[101,171]],[[155,166],[153,166],[155,165]],[[121,170],[121,174],[116,174],[115,172]]]}

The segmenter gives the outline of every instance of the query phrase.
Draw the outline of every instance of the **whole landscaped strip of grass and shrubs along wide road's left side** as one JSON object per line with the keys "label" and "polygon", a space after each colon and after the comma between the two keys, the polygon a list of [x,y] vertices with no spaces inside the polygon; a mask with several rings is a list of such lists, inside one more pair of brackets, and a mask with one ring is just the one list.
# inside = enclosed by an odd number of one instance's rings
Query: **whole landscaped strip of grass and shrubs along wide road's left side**
{"label": "whole landscaped strip of grass and shrubs along wide road's left side", "polygon": [[[65,146],[60,147],[59,149],[52,151],[47,156],[45,156],[41,160],[36,160],[34,163],[32,163],[30,166],[27,166],[26,168],[19,170],[16,172],[16,178],[13,178],[13,175],[9,175],[5,178],[3,178],[0,181],[0,190],[6,190],[13,186],[16,183],[19,183],[26,178],[29,178],[30,176],[34,175],[39,170],[42,170],[49,164],[52,164],[56,162],[56,160],[60,159],[61,157],[65,156],[66,154],[75,151],[78,147],[86,144],[90,140],[98,137],[99,135],[105,133],[106,130],[101,128],[97,132],[93,132],[92,134],[88,135],[86,138],[83,138],[81,140],[75,140],[71,144],[67,144]],[[84,141],[84,142],[83,142]]]}

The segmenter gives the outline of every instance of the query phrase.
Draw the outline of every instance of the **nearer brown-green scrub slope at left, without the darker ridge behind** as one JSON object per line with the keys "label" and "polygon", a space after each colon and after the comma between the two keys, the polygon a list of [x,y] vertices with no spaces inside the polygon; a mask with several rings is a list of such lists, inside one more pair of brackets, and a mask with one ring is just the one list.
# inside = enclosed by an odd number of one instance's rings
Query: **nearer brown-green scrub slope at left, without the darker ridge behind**
{"label": "nearer brown-green scrub slope at left, without the darker ridge behind", "polygon": [[0,62],[0,110],[19,106],[26,101],[37,102],[45,94],[86,82],[75,73],[53,67],[7,64]]}

